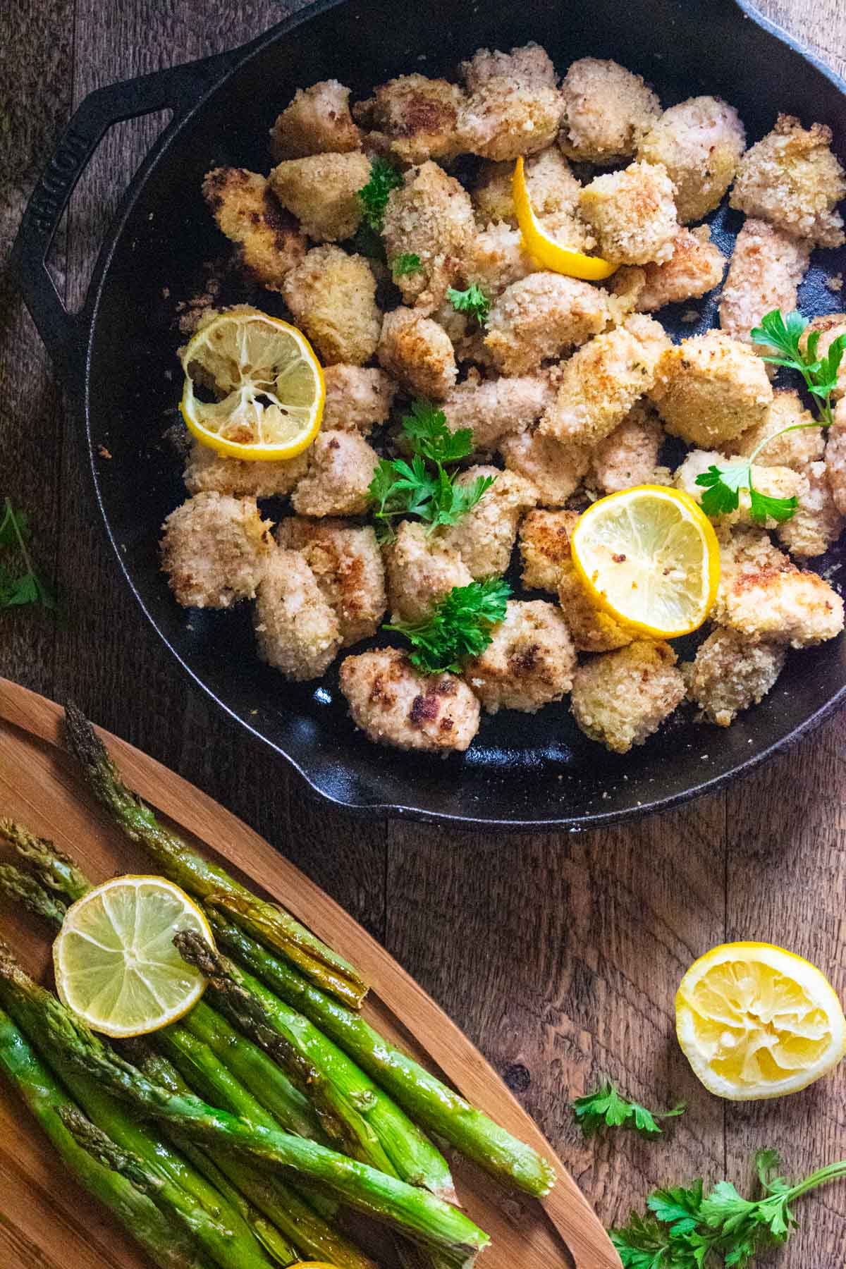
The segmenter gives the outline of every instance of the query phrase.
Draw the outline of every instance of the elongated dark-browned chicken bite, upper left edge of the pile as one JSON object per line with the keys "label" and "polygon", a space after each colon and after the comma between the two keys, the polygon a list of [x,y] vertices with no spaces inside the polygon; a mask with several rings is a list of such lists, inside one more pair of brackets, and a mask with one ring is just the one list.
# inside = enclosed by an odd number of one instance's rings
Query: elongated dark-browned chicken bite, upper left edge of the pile
{"label": "elongated dark-browned chicken bite, upper left edge of the pile", "polygon": [[203,197],[217,227],[237,245],[247,273],[263,287],[282,291],[306,255],[306,239],[265,178],[245,168],[214,168],[203,180]]}

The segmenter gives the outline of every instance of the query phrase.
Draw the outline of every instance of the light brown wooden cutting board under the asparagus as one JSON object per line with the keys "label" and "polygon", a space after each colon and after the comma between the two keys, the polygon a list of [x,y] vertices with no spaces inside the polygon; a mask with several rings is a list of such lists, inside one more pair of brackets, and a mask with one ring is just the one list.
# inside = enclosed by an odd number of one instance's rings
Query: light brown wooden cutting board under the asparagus
{"label": "light brown wooden cutting board under the asparagus", "polygon": [[[0,815],[52,838],[95,881],[147,871],[141,851],[112,826],[57,747],[61,716],[52,700],[0,679]],[[364,1015],[383,1036],[554,1164],[556,1188],[543,1202],[534,1202],[506,1193],[467,1161],[450,1157],[465,1211],[492,1237],[481,1264],[486,1269],[619,1269],[608,1235],[549,1143],[478,1049],[384,948],[211,797],[115,736],[101,735],[128,783],[183,836],[208,857],[225,860],[256,892],[279,900],[358,966],[372,983]],[[47,930],[1,900],[0,937],[33,973],[47,973]],[[140,1269],[146,1264],[110,1217],[67,1178],[5,1085],[0,1086],[0,1264],[4,1269]]]}

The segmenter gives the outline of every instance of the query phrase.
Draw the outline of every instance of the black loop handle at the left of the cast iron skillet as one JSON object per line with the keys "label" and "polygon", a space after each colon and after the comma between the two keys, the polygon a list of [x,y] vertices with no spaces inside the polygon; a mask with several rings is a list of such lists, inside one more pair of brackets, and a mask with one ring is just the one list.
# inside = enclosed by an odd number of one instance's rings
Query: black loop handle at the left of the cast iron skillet
{"label": "black loop handle at the left of the cast iron skillet", "polygon": [[23,214],[10,268],[38,334],[68,387],[76,387],[84,374],[85,321],[67,312],[44,261],[74,187],[113,123],[171,108],[170,131],[242,56],[242,48],[232,49],[96,89],[82,100],[58,138]]}

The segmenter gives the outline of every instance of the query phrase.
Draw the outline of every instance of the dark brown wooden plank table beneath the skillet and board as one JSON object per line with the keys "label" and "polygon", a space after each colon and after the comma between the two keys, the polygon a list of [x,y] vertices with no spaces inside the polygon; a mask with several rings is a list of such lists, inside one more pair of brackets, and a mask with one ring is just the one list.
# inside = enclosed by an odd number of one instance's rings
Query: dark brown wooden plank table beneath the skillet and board
{"label": "dark brown wooden plank table beneath the skillet and board", "polygon": [[[0,19],[4,239],[86,93],[232,47],[296,8],[297,0],[10,0]],[[842,0],[762,0],[761,8],[843,71]],[[155,119],[114,128],[86,173],[55,253],[71,306],[82,299],[118,193],[156,128]],[[778,1146],[795,1173],[846,1155],[842,1068],[784,1101],[724,1104],[699,1088],[672,1027],[682,971],[726,939],[784,944],[846,995],[846,717],[727,793],[605,832],[491,839],[355,821],[316,806],[268,751],[189,689],[142,621],[95,518],[47,355],[8,280],[0,286],[0,495],[30,513],[36,555],[67,612],[61,624],[34,612],[0,618],[0,674],[60,700],[72,695],[315,877],[482,1048],[606,1223],[641,1207],[658,1183],[704,1173],[746,1185],[761,1146]],[[690,1109],[662,1143],[618,1134],[586,1145],[568,1101],[604,1074],[649,1105],[684,1096]],[[841,1266],[846,1187],[809,1199],[802,1218],[783,1263]]]}

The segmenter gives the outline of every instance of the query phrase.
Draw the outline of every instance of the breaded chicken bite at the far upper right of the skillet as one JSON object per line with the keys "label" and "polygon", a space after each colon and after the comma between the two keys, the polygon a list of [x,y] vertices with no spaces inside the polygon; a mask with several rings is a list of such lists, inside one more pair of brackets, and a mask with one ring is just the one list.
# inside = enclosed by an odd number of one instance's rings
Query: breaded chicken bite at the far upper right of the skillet
{"label": "breaded chicken bite at the far upper right of the skillet", "polygon": [[822,123],[805,131],[780,114],[772,132],[743,155],[731,206],[814,246],[842,246],[843,218],[835,208],[846,195],[846,174],[831,140]]}

